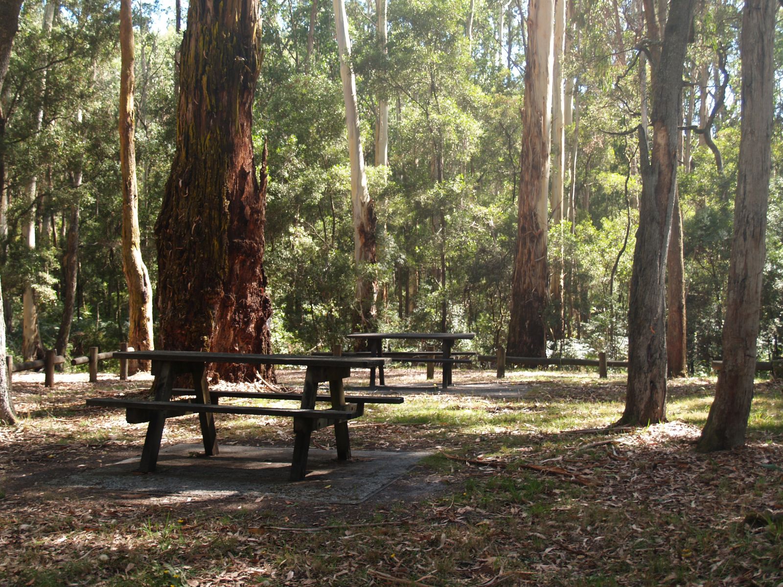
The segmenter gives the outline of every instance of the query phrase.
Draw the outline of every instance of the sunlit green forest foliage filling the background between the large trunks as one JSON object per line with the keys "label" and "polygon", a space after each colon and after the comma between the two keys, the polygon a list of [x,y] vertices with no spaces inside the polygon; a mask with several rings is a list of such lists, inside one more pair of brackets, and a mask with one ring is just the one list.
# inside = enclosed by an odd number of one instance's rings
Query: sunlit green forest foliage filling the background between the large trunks
{"label": "sunlit green forest foliage filling the background between the large trunks", "polygon": [[[175,153],[177,60],[187,23],[183,12],[178,30],[171,5],[132,8],[140,247],[155,289],[153,230]],[[377,216],[377,262],[362,268],[377,284],[374,324],[472,331],[474,350],[494,352],[507,344],[509,330],[527,3],[395,0],[388,7],[346,2],[345,9]],[[722,355],[739,157],[741,12],[741,2],[697,2],[684,61],[677,185],[691,373]],[[63,330],[74,222],[78,271],[68,352],[118,348],[128,337],[118,20],[117,2],[22,4],[0,96],[0,277],[9,353],[19,358],[28,288],[41,347],[54,347]],[[776,63],[783,57],[781,29],[778,20]],[[637,0],[568,5],[565,196],[561,221],[550,214],[548,226],[548,355],[627,353],[642,189],[639,142],[630,131],[643,124],[649,106],[644,38]],[[272,349],[328,350],[345,343],[356,310],[351,170],[332,6],[263,3],[261,48],[252,140],[257,158],[268,149]],[[759,358],[780,356],[783,333],[783,80],[780,69],[775,75]],[[388,104],[388,165],[376,164],[381,102]]]}

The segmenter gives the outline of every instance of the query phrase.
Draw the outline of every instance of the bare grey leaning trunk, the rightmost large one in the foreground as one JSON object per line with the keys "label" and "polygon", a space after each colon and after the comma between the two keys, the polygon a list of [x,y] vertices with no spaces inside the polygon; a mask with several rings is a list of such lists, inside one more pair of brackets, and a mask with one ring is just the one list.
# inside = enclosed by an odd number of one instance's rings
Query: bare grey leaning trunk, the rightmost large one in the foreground
{"label": "bare grey leaning trunk, the rightmost large one in the foreground", "polygon": [[745,444],[753,398],[770,187],[777,10],[775,0],[748,0],[742,13],[742,131],[723,321],[723,369],[698,441],[701,452]]}

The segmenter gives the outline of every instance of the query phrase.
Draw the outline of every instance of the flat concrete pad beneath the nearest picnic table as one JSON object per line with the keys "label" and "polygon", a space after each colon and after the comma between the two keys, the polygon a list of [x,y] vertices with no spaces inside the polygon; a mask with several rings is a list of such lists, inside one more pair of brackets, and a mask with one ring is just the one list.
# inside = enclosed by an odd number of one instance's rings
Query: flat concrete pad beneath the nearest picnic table
{"label": "flat concrete pad beneath the nearest picnic table", "polygon": [[198,497],[273,495],[284,499],[361,503],[410,470],[431,452],[352,451],[348,462],[334,451],[310,448],[304,481],[288,481],[293,448],[221,445],[203,456],[197,444],[161,448],[157,470],[139,474],[139,457],[52,481],[66,487]]}

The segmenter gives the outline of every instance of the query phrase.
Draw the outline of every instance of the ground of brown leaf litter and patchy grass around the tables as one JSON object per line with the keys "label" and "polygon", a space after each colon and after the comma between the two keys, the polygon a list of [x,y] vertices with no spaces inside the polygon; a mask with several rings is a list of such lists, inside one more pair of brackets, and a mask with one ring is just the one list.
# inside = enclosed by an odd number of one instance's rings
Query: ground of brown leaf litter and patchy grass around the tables
{"label": "ground of brown leaf litter and patchy grass around the tables", "polygon": [[[624,430],[604,428],[622,410],[616,379],[547,373],[514,401],[406,398],[352,424],[352,445],[437,456],[358,507],[46,487],[137,450],[143,426],[84,399],[149,382],[14,383],[22,423],[0,427],[3,584],[783,585],[778,382],[757,386],[745,448],[706,456],[693,408],[709,409],[705,380],[671,384],[669,423]],[[221,438],[290,445],[289,429],[229,417]],[[197,420],[171,420],[166,438],[198,441]],[[334,445],[328,431],[314,440]]]}

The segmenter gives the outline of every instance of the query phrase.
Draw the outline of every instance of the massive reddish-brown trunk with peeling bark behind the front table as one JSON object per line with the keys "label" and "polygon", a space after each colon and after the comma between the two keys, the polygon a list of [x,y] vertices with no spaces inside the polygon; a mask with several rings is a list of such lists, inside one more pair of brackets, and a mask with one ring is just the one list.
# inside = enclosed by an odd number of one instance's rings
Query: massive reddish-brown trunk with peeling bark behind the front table
{"label": "massive reddish-brown trunk with peeling bark behind the front table", "polygon": [[[177,145],[155,232],[159,347],[269,353],[266,209],[255,175],[253,95],[261,67],[258,0],[190,2],[182,39]],[[226,379],[254,366],[218,365]]]}

